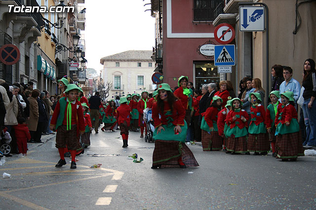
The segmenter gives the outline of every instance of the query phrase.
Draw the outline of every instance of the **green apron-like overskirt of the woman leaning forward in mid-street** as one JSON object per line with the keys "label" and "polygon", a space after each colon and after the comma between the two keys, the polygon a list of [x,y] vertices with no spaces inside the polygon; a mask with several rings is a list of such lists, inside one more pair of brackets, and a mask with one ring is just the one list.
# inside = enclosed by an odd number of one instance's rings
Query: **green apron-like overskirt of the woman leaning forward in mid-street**
{"label": "green apron-like overskirt of the woman leaning forward in mid-street", "polygon": [[160,133],[157,134],[158,127],[155,129],[153,134],[153,139],[156,140],[164,140],[164,141],[179,141],[179,142],[186,142],[187,138],[187,130],[188,125],[187,122],[184,120],[184,125],[180,126],[182,132],[175,134],[174,133],[174,125],[172,123],[169,123],[168,125],[162,125],[164,130],[160,130]]}

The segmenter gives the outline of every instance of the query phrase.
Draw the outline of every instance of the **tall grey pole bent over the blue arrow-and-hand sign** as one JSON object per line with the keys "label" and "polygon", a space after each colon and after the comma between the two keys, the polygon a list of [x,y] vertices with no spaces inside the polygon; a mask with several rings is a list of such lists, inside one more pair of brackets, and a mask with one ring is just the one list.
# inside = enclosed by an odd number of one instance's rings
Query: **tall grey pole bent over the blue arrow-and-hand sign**
{"label": "tall grey pole bent over the blue arrow-and-hand sign", "polygon": [[[246,6],[246,5],[262,5],[265,7],[266,10],[266,65],[267,65],[267,75],[266,75],[266,80],[267,80],[267,86],[266,86],[266,105],[268,106],[268,95],[270,91],[269,87],[269,78],[270,78],[270,71],[269,71],[269,11],[268,11],[268,6],[265,3],[254,3],[254,2],[240,2],[239,5],[241,6]],[[240,20],[239,20],[240,21]]]}

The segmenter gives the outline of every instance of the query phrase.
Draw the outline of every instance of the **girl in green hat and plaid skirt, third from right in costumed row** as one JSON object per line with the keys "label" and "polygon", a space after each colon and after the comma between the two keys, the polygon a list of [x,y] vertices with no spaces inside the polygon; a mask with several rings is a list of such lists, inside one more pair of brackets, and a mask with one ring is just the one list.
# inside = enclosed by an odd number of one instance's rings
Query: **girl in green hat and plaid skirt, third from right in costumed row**
{"label": "girl in green hat and plaid skirt, third from right in costumed row", "polygon": [[266,155],[270,151],[270,143],[266,130],[266,110],[261,105],[259,92],[250,93],[251,121],[248,128],[247,151],[254,152],[253,155]]}

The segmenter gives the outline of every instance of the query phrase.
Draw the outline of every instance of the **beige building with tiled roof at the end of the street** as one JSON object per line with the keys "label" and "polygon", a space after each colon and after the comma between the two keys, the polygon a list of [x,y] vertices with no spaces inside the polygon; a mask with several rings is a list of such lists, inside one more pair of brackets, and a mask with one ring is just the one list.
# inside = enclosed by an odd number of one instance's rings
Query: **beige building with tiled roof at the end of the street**
{"label": "beige building with tiled roof at the end of the street", "polygon": [[[129,50],[101,58],[104,66],[101,77],[111,82],[110,99],[127,94],[152,92],[156,85],[152,82],[155,62],[151,50]],[[107,98],[109,100],[109,98]]]}

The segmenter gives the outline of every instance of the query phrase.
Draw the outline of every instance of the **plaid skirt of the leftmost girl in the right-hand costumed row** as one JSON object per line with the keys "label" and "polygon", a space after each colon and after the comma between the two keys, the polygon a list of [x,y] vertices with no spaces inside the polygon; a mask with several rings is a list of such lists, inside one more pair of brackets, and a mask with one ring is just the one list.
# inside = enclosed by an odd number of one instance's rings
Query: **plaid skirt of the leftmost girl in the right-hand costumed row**
{"label": "plaid skirt of the leftmost girl in the right-hand costumed row", "polygon": [[212,131],[211,134],[202,130],[202,148],[203,151],[216,151],[223,149],[222,137],[218,135],[218,131]]}

